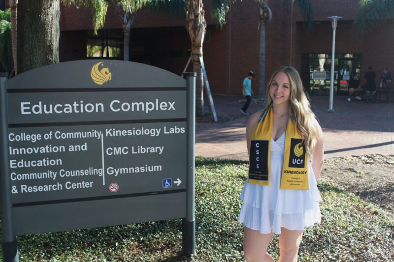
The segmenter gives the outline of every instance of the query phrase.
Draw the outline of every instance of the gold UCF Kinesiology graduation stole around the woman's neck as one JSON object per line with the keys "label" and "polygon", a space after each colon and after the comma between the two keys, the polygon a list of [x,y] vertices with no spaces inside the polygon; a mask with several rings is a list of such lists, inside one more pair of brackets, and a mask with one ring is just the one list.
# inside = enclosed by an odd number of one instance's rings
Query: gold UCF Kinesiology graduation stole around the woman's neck
{"label": "gold UCF Kinesiology graduation stole around the woman's neck", "polygon": [[[249,157],[251,184],[269,185],[273,109],[265,110],[253,129]],[[290,120],[286,126],[285,155],[280,181],[281,189],[309,190],[308,155],[297,124]]]}

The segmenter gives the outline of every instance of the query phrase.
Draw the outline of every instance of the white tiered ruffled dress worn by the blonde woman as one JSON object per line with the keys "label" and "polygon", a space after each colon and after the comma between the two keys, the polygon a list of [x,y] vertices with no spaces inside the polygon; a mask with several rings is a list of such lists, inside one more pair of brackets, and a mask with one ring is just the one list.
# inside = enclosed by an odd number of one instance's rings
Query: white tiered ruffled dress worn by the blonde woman
{"label": "white tiered ruffled dress worn by the blonde woman", "polygon": [[304,230],[320,223],[319,203],[322,202],[316,185],[311,162],[308,161],[309,190],[280,189],[285,134],[277,141],[271,140],[271,172],[269,186],[246,184],[240,199],[242,208],[238,221],[245,227],[260,233],[281,233],[281,227],[288,230]]}

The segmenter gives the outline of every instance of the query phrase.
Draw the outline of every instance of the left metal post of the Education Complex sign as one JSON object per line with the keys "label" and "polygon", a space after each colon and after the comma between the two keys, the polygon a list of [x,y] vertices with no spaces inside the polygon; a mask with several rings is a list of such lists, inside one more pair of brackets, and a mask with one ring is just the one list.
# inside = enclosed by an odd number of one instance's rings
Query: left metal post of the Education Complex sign
{"label": "left metal post of the Education Complex sign", "polygon": [[1,226],[4,262],[18,262],[18,242],[14,232],[12,215],[11,184],[9,180],[7,76],[0,75],[0,183],[1,183]]}

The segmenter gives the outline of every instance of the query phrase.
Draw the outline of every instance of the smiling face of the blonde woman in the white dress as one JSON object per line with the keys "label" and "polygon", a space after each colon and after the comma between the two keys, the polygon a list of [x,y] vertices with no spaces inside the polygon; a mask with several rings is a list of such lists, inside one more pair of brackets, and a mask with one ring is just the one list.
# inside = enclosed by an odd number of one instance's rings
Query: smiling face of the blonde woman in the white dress
{"label": "smiling face of the blonde woman in the white dress", "polygon": [[289,104],[291,93],[290,79],[284,72],[277,73],[269,86],[269,95],[275,105]]}

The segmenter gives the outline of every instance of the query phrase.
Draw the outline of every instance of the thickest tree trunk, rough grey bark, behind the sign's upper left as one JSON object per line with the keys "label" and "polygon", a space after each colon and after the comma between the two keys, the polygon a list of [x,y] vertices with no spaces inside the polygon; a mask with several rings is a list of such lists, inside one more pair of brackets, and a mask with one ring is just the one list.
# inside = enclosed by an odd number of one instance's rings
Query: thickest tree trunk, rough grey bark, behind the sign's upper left
{"label": "thickest tree trunk, rough grey bark, behind the sign's upper left", "polygon": [[60,0],[23,0],[18,12],[18,73],[58,63]]}

